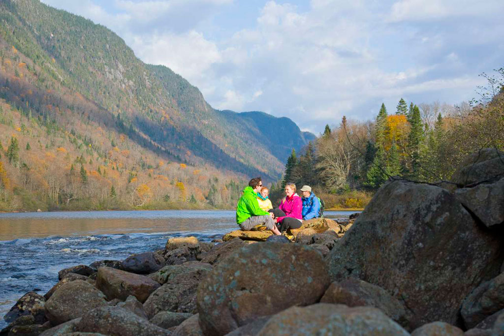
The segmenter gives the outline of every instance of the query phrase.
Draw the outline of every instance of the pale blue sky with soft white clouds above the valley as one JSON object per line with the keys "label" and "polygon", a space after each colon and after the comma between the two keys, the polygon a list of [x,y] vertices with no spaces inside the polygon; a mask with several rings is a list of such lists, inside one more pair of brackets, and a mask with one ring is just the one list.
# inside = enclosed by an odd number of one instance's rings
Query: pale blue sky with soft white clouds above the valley
{"label": "pale blue sky with soft white clouds above the valley", "polygon": [[504,66],[504,1],[42,0],[102,24],[216,109],[287,116],[323,132],[476,96]]}

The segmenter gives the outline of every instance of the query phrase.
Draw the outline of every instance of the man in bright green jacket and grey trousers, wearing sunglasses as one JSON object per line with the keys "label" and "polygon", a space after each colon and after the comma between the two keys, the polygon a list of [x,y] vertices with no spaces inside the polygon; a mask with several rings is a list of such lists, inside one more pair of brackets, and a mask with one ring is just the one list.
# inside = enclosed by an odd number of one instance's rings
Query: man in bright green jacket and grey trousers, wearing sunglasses
{"label": "man in bright green jacket and grey trousers, wearing sunglasses", "polygon": [[243,195],[236,206],[236,223],[244,231],[248,231],[256,225],[265,225],[274,234],[280,235],[281,233],[273,221],[273,214],[259,208],[257,193],[261,191],[262,187],[261,177],[255,177],[248,182],[248,186],[243,189]]}

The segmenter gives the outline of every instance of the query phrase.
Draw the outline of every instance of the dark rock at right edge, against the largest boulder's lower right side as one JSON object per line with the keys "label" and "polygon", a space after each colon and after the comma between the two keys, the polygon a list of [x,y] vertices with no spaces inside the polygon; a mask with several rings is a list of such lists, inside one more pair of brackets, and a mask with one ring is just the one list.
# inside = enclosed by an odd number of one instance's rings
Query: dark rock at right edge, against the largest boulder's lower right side
{"label": "dark rock at right edge, against the largest boulder's lower right side", "polygon": [[504,309],[504,273],[474,289],[462,304],[461,314],[468,328]]}

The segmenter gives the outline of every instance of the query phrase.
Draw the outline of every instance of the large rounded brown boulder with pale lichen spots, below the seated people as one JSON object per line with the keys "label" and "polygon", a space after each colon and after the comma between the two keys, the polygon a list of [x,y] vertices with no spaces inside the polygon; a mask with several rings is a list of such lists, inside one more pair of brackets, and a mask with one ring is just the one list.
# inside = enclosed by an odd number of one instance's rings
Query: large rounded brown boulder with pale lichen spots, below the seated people
{"label": "large rounded brown boulder with pale lichen spots, below the seated people", "polygon": [[251,244],[217,264],[198,288],[205,334],[225,334],[261,316],[318,302],[329,286],[327,265],[299,244]]}

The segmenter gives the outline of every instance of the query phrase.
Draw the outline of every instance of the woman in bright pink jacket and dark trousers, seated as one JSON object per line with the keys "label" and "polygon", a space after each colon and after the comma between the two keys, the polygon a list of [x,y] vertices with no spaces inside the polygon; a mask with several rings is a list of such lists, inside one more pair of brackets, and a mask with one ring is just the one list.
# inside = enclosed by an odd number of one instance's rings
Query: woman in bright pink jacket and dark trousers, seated
{"label": "woman in bright pink jacket and dark trousers, seated", "polygon": [[278,209],[283,211],[283,214],[280,213],[279,217],[275,218],[276,222],[280,224],[280,232],[301,227],[303,201],[296,193],[296,185],[294,183],[285,185],[285,197],[282,198]]}

